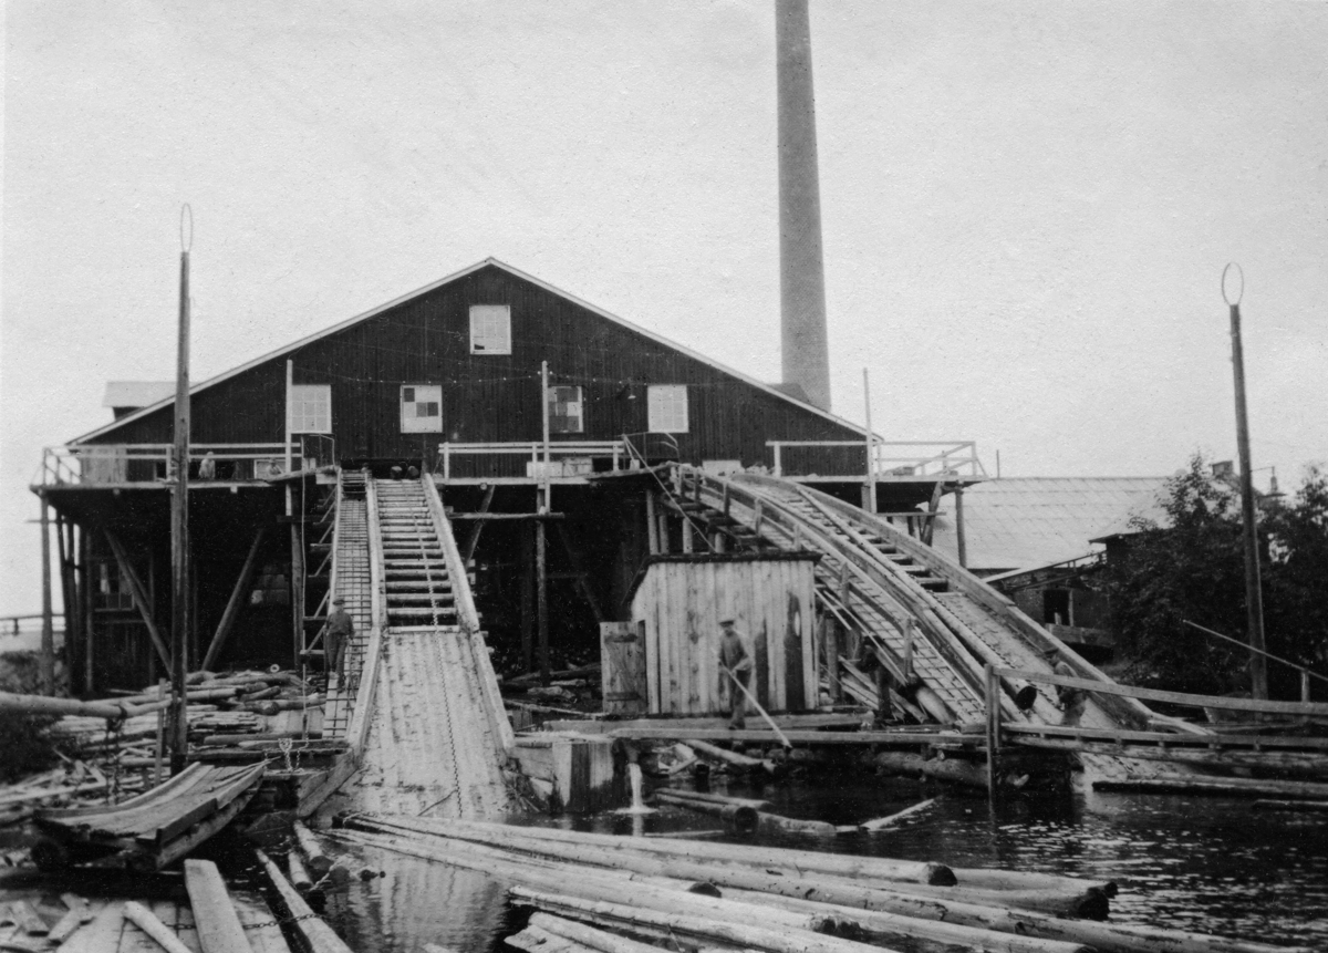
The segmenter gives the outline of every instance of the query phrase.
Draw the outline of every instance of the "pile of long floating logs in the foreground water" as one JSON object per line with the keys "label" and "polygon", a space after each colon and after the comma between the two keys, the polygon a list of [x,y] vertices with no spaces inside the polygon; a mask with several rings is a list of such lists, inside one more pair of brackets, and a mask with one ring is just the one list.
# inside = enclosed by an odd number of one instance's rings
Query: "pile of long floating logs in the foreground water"
{"label": "pile of long floating logs in the foreground water", "polygon": [[352,816],[333,836],[506,883],[537,911],[510,941],[527,950],[1287,949],[1090,918],[1105,916],[1112,888],[1054,875],[400,816]]}

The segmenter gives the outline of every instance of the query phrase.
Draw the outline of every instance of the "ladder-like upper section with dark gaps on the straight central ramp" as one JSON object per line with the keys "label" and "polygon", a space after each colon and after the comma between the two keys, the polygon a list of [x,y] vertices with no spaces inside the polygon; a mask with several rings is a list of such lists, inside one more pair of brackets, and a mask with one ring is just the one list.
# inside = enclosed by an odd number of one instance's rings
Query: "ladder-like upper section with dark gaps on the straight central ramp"
{"label": "ladder-like upper section with dark gaps on the straight central ramp", "polygon": [[437,628],[457,624],[442,540],[418,480],[374,480],[388,625]]}

